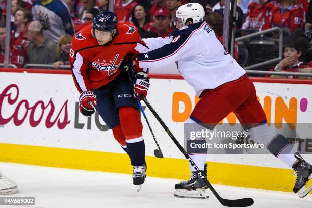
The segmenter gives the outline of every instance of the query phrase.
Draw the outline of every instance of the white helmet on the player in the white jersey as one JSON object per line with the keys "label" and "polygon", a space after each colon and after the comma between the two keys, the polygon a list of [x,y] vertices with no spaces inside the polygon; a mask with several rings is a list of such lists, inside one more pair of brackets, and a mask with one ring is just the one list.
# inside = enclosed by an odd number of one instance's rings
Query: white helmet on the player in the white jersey
{"label": "white helmet on the player in the white jersey", "polygon": [[181,18],[183,24],[189,18],[193,19],[193,23],[198,23],[204,20],[205,10],[199,3],[188,3],[181,5],[175,15],[176,18]]}

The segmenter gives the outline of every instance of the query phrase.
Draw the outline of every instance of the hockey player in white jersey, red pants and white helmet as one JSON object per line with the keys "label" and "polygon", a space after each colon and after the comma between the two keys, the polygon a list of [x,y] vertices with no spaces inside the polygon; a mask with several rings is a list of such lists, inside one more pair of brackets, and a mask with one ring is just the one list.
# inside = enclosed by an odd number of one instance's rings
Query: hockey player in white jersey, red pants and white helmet
{"label": "hockey player in white jersey, red pants and white helmet", "polygon": [[[294,152],[284,136],[268,127],[253,83],[204,21],[203,7],[198,3],[180,6],[176,11],[175,24],[177,29],[165,39],[143,39],[151,51],[139,55],[129,65],[136,62],[140,68],[157,69],[175,62],[178,71],[201,98],[186,123],[213,129],[234,112],[242,126],[248,129],[252,140],[264,144],[276,158],[293,168],[297,175],[293,191],[301,198],[306,196],[312,189],[312,186],[305,186],[312,177],[311,165]],[[206,154],[190,155],[205,176]],[[207,186],[193,166],[190,168],[191,178],[175,185],[175,196],[207,198]],[[194,191],[196,193],[192,193]]]}

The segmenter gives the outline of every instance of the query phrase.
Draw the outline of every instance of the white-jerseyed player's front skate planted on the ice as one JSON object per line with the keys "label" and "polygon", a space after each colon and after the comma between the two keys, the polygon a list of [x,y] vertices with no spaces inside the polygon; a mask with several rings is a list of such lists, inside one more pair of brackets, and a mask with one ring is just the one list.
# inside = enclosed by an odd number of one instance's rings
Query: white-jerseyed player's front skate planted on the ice
{"label": "white-jerseyed player's front skate planted on the ice", "polygon": [[[207,178],[207,164],[205,164],[204,167],[204,170],[200,172],[205,178]],[[207,193],[208,187],[205,181],[196,174],[196,171],[192,172],[189,180],[176,184],[174,188],[174,196],[176,197],[200,199],[206,199],[209,197]]]}

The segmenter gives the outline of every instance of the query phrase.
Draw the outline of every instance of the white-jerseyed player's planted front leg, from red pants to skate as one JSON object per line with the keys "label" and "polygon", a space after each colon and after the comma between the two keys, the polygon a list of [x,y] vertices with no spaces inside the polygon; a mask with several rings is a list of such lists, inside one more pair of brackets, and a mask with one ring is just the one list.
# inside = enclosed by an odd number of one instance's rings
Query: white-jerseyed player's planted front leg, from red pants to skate
{"label": "white-jerseyed player's planted front leg, from red pants to skate", "polygon": [[[194,107],[190,118],[185,123],[187,152],[205,176],[207,175],[207,166],[205,166],[207,148],[190,147],[190,143],[205,143],[205,138],[191,139],[190,132],[201,132],[203,128],[212,130],[217,123],[240,105],[242,102],[241,96],[236,89],[231,88],[230,85],[231,84],[227,87],[220,87],[216,90],[206,91]],[[176,184],[174,195],[185,198],[207,198],[207,186],[204,181],[197,176],[194,167],[190,164],[189,166],[191,178]]]}

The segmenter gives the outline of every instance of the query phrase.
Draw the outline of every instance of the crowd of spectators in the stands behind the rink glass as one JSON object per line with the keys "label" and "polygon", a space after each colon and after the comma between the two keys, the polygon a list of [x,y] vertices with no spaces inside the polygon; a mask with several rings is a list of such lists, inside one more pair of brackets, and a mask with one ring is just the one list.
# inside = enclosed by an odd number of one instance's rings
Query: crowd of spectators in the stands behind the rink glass
{"label": "crowd of spectators in the stands behind the rink glass", "polygon": [[[174,30],[175,12],[180,5],[198,2],[205,8],[206,21],[218,39],[223,39],[226,0],[116,0],[114,12],[121,22],[132,22],[142,38],[166,37]],[[292,71],[312,67],[312,9],[309,0],[239,0],[236,37],[272,27],[284,33],[284,59],[266,70]],[[91,24],[108,0],[12,0],[10,63],[68,64],[71,38]],[[6,1],[0,0],[0,63],[4,62]],[[274,40],[274,33],[262,40]],[[248,50],[235,42],[234,57],[244,65]],[[246,57],[247,56],[247,57]],[[246,64],[246,63],[245,63]],[[309,72],[309,71],[307,71]]]}

